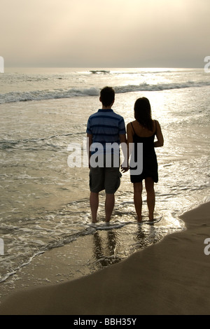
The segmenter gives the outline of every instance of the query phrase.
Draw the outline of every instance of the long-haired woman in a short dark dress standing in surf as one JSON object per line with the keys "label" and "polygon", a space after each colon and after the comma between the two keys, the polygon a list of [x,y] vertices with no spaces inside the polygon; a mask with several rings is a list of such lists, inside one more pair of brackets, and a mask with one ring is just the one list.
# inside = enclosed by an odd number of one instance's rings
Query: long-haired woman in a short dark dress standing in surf
{"label": "long-haired woman in a short dark dress standing in surf", "polygon": [[[137,144],[143,143],[143,171],[141,174],[135,174],[134,168],[130,174],[130,179],[134,184],[134,206],[137,211],[138,221],[142,221],[142,181],[145,180],[147,193],[147,204],[149,221],[153,221],[155,209],[155,190],[154,182],[158,183],[158,162],[155,154],[155,147],[163,146],[164,139],[160,124],[153,120],[151,116],[151,104],[146,97],[137,99],[134,104],[134,118],[136,120],[127,124],[127,143],[134,143],[135,162],[137,162]],[[155,136],[157,141],[154,141]]]}

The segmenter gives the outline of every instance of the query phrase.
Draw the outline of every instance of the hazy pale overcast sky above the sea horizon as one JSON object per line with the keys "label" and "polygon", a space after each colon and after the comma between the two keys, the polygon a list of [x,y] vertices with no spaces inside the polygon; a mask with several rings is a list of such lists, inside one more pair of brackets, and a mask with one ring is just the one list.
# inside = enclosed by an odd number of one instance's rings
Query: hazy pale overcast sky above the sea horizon
{"label": "hazy pale overcast sky above the sea horizon", "polygon": [[1,0],[5,66],[204,67],[210,0]]}

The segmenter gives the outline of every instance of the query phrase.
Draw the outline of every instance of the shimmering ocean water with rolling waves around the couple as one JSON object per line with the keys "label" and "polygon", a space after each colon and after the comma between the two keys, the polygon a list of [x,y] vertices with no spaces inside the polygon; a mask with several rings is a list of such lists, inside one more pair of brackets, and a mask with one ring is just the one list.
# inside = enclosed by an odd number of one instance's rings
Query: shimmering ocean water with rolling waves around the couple
{"label": "shimmering ocean water with rolling waves around the couple", "polygon": [[[165,145],[155,149],[155,216],[161,221],[153,225],[137,223],[129,172],[121,179],[110,225],[104,222],[104,192],[99,223],[92,225],[89,169],[83,162],[68,165],[69,145],[80,145],[85,156],[87,119],[100,109],[99,90],[106,85],[116,90],[113,111],[126,125],[134,120],[134,102],[144,96],[162,127]],[[95,255],[72,257],[94,272],[184,230],[179,216],[210,200],[209,101],[210,73],[204,69],[5,69],[0,74],[0,282],[36,255],[79,244],[86,235]],[[143,201],[146,221],[145,189]]]}

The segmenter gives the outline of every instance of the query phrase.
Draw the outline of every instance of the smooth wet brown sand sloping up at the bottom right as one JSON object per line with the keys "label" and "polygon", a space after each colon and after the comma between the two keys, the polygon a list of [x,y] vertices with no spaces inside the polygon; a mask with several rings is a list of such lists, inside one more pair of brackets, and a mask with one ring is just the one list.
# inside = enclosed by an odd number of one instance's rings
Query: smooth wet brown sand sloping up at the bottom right
{"label": "smooth wet brown sand sloping up at the bottom right", "polygon": [[[204,244],[210,238],[209,214],[210,202],[186,212],[181,216],[186,230],[94,274],[19,289],[3,300],[0,314],[209,314],[210,247]],[[48,261],[53,265],[56,259]]]}

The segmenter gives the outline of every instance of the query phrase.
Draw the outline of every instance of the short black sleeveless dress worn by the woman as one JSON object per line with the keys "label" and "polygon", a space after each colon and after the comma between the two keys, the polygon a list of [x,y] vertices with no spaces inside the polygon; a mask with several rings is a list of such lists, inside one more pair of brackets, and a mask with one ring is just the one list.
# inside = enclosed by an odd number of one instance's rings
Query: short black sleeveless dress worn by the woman
{"label": "short black sleeveless dress worn by the woman", "polygon": [[[133,125],[132,129],[134,130]],[[146,179],[146,177],[151,177],[155,183],[158,183],[158,161],[154,148],[154,139],[155,133],[151,137],[139,137],[134,130],[134,161],[137,162],[137,144],[143,143],[143,170],[141,174],[130,174],[132,183],[139,183],[143,179]],[[137,167],[130,166],[130,169],[137,169]]]}

